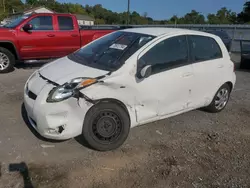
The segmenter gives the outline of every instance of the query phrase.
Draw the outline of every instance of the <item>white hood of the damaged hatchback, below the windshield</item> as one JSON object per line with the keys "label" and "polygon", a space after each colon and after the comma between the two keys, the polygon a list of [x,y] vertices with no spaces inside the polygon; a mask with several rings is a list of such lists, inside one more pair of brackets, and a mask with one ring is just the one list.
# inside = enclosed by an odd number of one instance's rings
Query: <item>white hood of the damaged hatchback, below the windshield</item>
{"label": "white hood of the damaged hatchback, below the windshield", "polygon": [[68,57],[57,59],[39,70],[45,78],[60,85],[77,77],[95,78],[108,73],[108,71],[88,67],[70,60]]}

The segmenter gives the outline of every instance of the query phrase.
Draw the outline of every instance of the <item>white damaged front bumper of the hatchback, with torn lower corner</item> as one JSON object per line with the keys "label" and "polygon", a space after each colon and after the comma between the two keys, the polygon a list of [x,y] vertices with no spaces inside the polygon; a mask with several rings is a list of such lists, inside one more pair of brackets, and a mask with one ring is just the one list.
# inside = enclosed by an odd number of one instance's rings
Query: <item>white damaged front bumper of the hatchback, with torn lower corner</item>
{"label": "white damaged front bumper of the hatchback, with torn lower corner", "polygon": [[[48,93],[53,87],[39,76],[26,83],[24,105],[30,124],[41,136],[49,139],[65,140],[80,135],[84,117],[93,104],[84,98],[73,97],[58,103],[47,103]],[[29,95],[29,91],[33,90],[38,93],[36,97]]]}

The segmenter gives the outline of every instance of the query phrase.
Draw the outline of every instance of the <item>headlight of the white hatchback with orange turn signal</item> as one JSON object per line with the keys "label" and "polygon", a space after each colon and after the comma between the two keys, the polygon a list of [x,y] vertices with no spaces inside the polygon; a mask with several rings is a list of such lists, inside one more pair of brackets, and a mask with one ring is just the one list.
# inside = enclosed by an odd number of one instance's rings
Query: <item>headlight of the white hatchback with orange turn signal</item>
{"label": "headlight of the white hatchback with orange turn signal", "polygon": [[76,94],[82,88],[96,83],[93,78],[75,78],[61,86],[55,87],[49,93],[47,102],[60,102]]}

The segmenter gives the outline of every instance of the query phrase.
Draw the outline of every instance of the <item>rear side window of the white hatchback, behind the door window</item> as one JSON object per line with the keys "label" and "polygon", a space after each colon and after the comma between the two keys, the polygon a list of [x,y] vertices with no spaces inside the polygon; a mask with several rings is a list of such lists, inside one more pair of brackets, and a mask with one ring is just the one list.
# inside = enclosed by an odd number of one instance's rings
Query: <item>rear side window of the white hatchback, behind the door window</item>
{"label": "rear side window of the white hatchback, behind the door window", "polygon": [[222,58],[222,51],[215,39],[206,36],[188,36],[192,62]]}

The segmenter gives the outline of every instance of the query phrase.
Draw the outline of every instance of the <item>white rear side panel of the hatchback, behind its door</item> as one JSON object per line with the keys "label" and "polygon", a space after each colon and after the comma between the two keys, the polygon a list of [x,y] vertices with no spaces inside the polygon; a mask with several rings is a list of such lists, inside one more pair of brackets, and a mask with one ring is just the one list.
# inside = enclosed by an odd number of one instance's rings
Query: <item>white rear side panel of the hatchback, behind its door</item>
{"label": "white rear side panel of the hatchback, behind its door", "polygon": [[234,64],[228,50],[219,37],[214,36],[213,38],[219,44],[223,58],[193,63],[195,82],[192,89],[192,101],[196,101],[194,103],[196,108],[209,105],[224,83],[231,81],[234,85],[236,81],[233,72]]}

